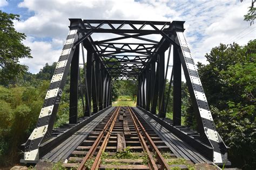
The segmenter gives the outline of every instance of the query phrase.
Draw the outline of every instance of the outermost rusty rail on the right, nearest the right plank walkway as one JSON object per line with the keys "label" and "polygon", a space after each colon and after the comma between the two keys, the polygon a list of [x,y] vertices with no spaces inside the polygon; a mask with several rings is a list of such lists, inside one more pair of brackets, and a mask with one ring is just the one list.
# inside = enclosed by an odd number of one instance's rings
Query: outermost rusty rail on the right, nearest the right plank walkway
{"label": "outermost rusty rail on the right, nearest the right plank walkway", "polygon": [[[132,111],[132,109],[130,107],[128,107],[132,118],[134,117],[140,127],[140,130],[142,130],[144,137],[146,138],[147,142],[150,144],[150,147],[152,148],[153,151],[156,151],[157,154],[157,158],[158,161],[161,165],[161,169],[170,169],[169,165],[167,164],[167,162],[165,161],[163,155],[161,155],[160,151],[158,150],[157,146],[154,144],[153,140],[151,139],[151,137],[149,136],[149,134],[146,132],[146,130],[144,129],[142,123],[140,123],[138,117],[134,114],[134,112]],[[135,125],[136,123],[134,123]]]}

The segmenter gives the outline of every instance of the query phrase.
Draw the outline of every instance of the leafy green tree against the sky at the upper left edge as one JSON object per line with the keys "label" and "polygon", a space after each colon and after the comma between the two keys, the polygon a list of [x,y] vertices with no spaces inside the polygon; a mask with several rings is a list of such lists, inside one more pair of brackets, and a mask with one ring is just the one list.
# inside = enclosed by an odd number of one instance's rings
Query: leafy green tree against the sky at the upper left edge
{"label": "leafy green tree against the sky at the upper left edge", "polygon": [[14,84],[28,70],[19,59],[32,58],[30,48],[22,44],[26,36],[15,30],[13,20],[19,20],[19,15],[0,10],[0,84],[4,86]]}

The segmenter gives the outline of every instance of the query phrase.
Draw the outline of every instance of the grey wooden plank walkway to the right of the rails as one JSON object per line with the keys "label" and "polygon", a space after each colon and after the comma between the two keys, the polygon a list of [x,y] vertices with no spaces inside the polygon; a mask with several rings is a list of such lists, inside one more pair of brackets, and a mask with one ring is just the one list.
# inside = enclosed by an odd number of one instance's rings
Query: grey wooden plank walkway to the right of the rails
{"label": "grey wooden plank walkway to the right of the rails", "polygon": [[171,151],[178,157],[186,160],[191,160],[194,163],[208,163],[211,161],[187,145],[184,141],[175,136],[172,132],[164,128],[161,124],[154,121],[150,116],[145,114],[138,108],[133,108],[151,128],[158,134],[158,136],[165,141],[166,145],[170,147]]}

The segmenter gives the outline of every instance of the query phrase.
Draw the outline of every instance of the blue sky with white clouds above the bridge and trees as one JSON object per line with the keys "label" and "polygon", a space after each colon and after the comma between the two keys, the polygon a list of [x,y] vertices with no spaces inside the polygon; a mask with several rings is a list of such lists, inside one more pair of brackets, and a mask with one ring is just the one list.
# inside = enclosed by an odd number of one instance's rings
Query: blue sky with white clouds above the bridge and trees
{"label": "blue sky with white clouds above the bridge and trees", "polygon": [[243,1],[153,0],[0,0],[0,10],[16,13],[15,29],[26,34],[23,43],[33,59],[20,62],[38,73],[45,63],[57,62],[69,32],[68,18],[118,20],[184,20],[185,36],[196,62],[207,63],[205,54],[221,43],[246,45],[256,38],[256,24],[244,21],[251,5]]}

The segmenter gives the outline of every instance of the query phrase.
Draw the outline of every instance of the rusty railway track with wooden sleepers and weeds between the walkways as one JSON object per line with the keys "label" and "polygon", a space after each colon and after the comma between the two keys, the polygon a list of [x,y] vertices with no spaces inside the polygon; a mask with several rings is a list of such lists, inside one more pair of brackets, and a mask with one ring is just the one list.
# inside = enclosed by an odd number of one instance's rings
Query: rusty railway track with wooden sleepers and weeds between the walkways
{"label": "rusty railway track with wooden sleepers and weeds between the walkways", "polygon": [[170,169],[177,159],[130,107],[117,107],[72,152],[68,169]]}

